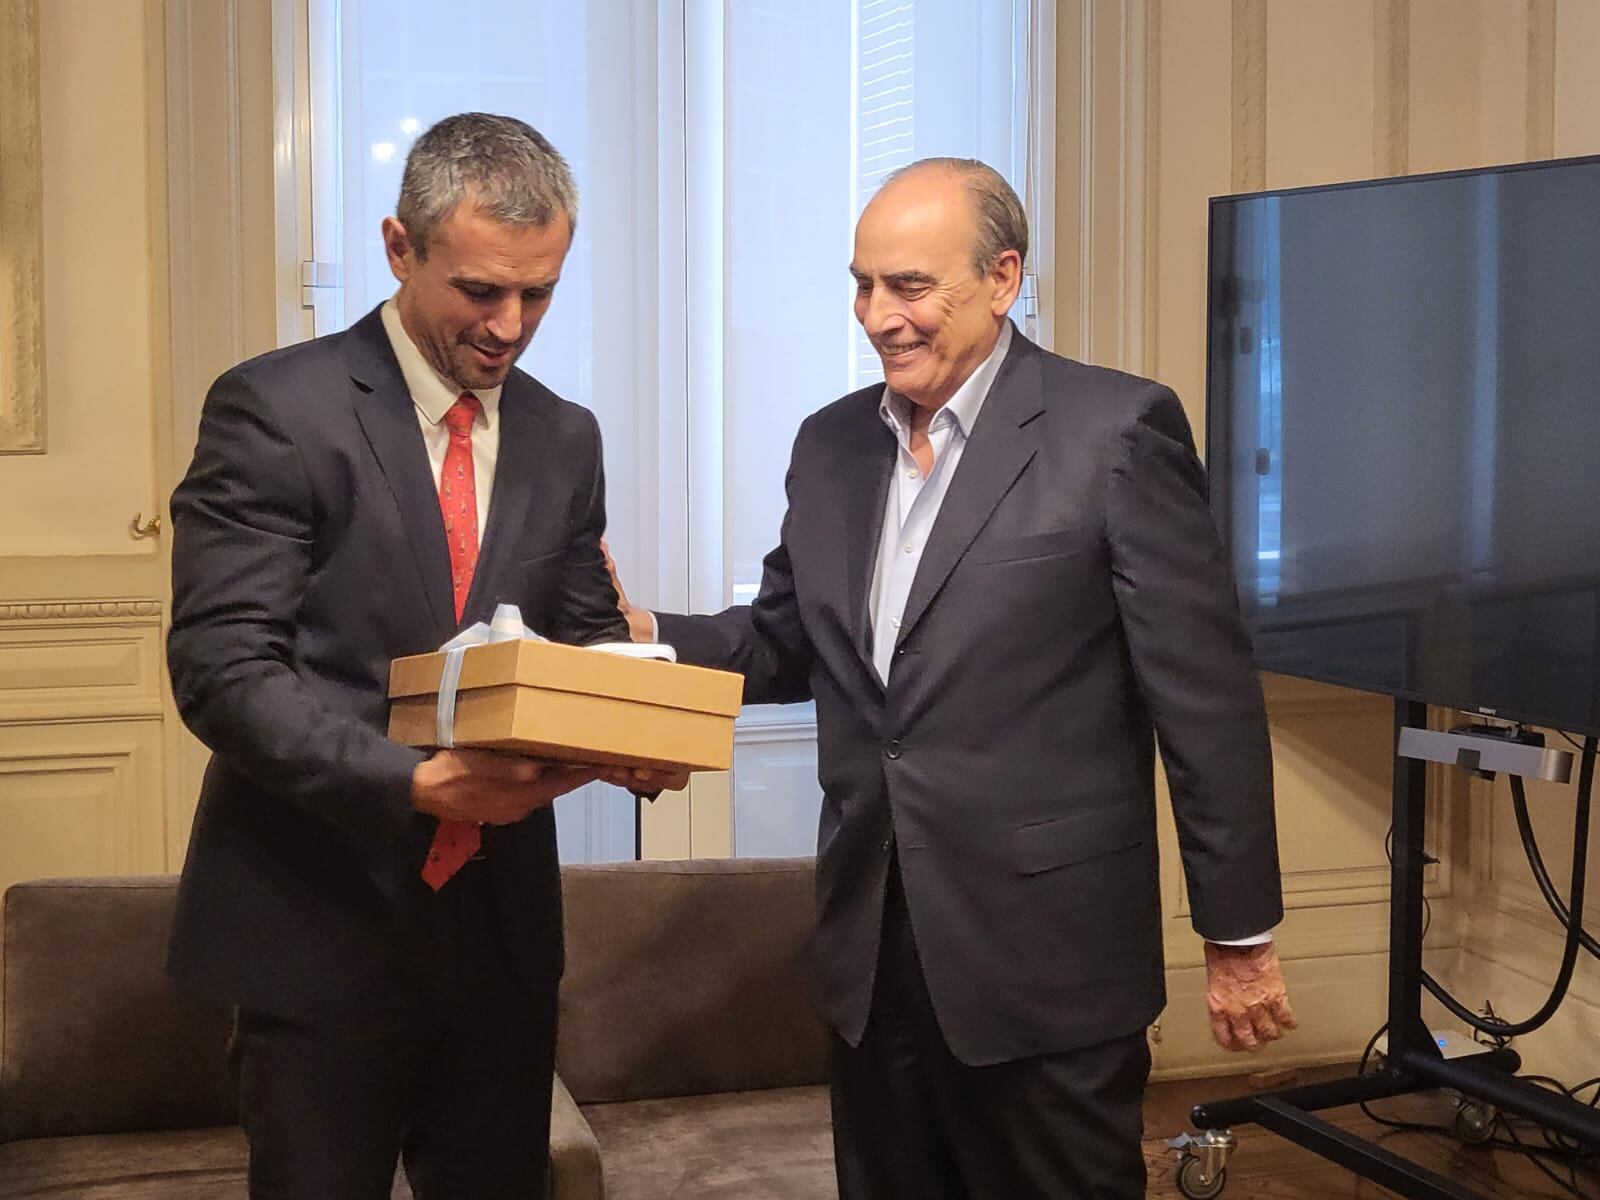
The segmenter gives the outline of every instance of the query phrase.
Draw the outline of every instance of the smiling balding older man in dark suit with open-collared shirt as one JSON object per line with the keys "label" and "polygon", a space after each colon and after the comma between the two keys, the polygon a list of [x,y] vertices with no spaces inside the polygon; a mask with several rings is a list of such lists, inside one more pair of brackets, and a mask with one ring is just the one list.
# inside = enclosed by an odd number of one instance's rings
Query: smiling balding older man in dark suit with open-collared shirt
{"label": "smiling balding older man in dark suit with open-collared shirt", "polygon": [[1144,1195],[1152,734],[1213,1029],[1293,1022],[1261,690],[1184,411],[1016,333],[1026,253],[990,168],[891,178],[851,262],[886,387],[800,427],[754,605],[659,614],[747,701],[816,701],[846,1200]]}

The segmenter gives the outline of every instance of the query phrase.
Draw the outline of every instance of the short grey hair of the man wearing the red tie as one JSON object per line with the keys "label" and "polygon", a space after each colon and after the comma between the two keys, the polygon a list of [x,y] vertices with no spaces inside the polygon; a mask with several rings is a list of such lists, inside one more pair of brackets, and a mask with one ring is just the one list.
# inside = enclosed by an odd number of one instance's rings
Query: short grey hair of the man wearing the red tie
{"label": "short grey hair of the man wearing the red tie", "polygon": [[526,122],[461,112],[427,128],[405,160],[395,216],[419,259],[462,200],[507,226],[547,226],[566,213],[578,230],[578,184],[560,152]]}

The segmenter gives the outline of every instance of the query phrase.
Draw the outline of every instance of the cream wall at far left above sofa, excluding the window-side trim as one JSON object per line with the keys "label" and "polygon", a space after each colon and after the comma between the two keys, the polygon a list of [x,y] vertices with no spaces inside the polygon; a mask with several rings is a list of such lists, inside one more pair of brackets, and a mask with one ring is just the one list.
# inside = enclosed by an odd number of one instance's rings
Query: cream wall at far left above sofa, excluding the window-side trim
{"label": "cream wall at far left above sofa, excluding the window-side trim", "polygon": [[37,6],[43,454],[0,458],[0,886],[163,870],[170,474],[160,8]]}

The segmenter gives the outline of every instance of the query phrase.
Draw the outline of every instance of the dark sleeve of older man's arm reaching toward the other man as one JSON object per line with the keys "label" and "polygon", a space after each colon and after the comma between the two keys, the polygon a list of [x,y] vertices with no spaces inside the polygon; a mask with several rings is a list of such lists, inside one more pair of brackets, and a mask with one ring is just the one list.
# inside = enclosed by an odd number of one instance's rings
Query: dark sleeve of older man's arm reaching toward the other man
{"label": "dark sleeve of older man's arm reaching toward the other man", "polygon": [[[805,437],[795,438],[795,458]],[[794,566],[789,562],[789,525],[794,514],[795,464],[784,490],[789,512],[778,546],[762,560],[762,587],[750,605],[734,605],[715,616],[656,613],[662,642],[682,662],[744,675],[746,704],[797,704],[811,699],[813,650],[800,622]]]}

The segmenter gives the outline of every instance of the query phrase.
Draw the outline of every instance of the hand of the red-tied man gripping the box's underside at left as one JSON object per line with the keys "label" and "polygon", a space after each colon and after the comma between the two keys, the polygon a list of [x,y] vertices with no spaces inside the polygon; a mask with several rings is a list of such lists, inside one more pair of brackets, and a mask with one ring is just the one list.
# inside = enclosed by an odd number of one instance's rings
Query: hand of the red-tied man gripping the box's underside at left
{"label": "hand of the red-tied man gripping the box's underside at left", "polygon": [[509,826],[598,778],[595,766],[496,750],[435,750],[411,773],[411,806],[440,821]]}

